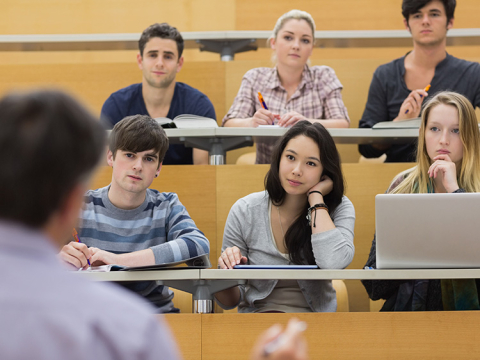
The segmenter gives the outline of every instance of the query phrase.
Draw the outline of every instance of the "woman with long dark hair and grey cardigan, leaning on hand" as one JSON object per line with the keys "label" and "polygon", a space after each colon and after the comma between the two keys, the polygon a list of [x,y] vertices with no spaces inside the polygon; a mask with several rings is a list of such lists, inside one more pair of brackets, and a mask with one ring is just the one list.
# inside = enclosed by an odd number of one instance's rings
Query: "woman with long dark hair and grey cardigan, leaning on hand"
{"label": "woman with long dark hair and grey cardigan, leaning on hand", "polygon": [[[265,191],[238,200],[230,210],[219,266],[341,269],[353,259],[354,224],[332,137],[321,124],[300,121],[274,148]],[[226,308],[238,305],[240,312],[336,310],[330,280],[251,280],[216,298]]]}

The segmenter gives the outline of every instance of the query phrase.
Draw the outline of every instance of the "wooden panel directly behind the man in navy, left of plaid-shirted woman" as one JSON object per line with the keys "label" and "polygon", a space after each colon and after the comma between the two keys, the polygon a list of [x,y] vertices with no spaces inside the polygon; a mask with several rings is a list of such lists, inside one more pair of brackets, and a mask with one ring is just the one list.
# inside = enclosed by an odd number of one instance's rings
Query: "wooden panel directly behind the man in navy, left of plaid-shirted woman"
{"label": "wooden panel directly behind the man in navy, left of plaid-shirted woman", "polygon": [[[225,112],[225,63],[190,62],[177,76],[178,81],[205,93],[217,114]],[[142,81],[136,62],[80,64],[9,64],[0,65],[0,95],[11,90],[36,87],[60,87],[82,100],[100,114],[112,92]]]}

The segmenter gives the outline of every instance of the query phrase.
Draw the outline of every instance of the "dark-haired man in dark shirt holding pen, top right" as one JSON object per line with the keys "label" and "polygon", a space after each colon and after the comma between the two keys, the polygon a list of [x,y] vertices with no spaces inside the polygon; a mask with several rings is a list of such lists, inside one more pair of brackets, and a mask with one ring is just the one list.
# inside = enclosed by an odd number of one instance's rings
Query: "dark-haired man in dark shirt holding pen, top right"
{"label": "dark-haired man in dark shirt holding pen, top right", "polygon": [[[456,91],[480,106],[480,64],[446,52],[447,31],[453,27],[455,0],[403,0],[404,24],[412,34],[413,50],[373,74],[360,128],[381,121],[420,116],[429,94]],[[424,90],[431,85],[428,93]],[[416,141],[398,145],[359,145],[367,157],[387,154],[387,162],[415,161]]]}

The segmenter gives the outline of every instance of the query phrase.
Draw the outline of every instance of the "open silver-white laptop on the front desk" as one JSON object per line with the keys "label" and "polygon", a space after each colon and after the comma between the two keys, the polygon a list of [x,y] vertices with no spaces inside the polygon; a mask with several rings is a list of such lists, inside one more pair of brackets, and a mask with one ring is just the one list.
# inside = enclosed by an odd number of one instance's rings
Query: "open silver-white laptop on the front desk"
{"label": "open silver-white laptop on the front desk", "polygon": [[480,268],[480,193],[375,197],[378,269]]}

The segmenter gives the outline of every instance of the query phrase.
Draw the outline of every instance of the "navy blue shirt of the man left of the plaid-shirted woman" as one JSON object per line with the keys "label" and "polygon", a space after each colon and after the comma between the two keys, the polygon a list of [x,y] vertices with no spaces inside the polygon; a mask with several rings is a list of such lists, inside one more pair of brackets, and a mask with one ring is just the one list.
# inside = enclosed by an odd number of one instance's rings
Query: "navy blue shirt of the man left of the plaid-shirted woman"
{"label": "navy blue shirt of the man left of the plaid-shirted woman", "polygon": [[[192,114],[216,120],[215,109],[208,97],[187,84],[175,83],[167,118]],[[142,96],[142,84],[133,84],[114,92],[102,107],[101,118],[109,129],[130,115],[150,115]],[[183,144],[170,144],[163,160],[164,165],[193,164],[192,148]]]}

